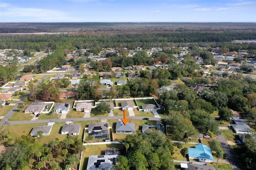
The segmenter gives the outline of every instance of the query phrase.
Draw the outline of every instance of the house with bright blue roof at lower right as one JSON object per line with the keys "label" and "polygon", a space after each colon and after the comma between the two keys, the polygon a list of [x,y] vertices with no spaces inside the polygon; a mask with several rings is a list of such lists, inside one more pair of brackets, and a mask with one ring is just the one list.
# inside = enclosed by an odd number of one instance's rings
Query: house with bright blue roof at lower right
{"label": "house with bright blue roof at lower right", "polygon": [[209,146],[197,144],[196,148],[188,148],[189,159],[199,159],[199,162],[213,162],[212,151]]}

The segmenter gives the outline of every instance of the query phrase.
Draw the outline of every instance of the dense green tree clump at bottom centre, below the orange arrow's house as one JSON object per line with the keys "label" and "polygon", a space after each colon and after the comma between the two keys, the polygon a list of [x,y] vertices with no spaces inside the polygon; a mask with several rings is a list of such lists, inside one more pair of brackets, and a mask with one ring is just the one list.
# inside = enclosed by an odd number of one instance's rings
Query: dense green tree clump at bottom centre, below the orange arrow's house
{"label": "dense green tree clump at bottom centre, below the orange arrow's house", "polygon": [[[126,157],[117,160],[117,170],[172,170],[172,154],[174,147],[170,140],[158,130],[149,130],[146,133],[137,131],[136,134],[128,134],[124,140],[124,146],[128,146]],[[128,145],[127,145],[128,144]]]}

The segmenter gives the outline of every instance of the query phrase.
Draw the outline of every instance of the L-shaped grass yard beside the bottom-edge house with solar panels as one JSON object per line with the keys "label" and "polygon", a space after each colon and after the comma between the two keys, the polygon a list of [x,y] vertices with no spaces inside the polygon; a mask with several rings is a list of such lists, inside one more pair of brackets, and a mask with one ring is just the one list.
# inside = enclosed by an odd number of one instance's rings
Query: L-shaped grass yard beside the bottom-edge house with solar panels
{"label": "L-shaped grass yard beside the bottom-edge house with solar panels", "polygon": [[100,144],[85,146],[85,152],[82,153],[80,169],[85,170],[90,155],[104,155],[106,148],[118,148],[122,152],[121,144]]}

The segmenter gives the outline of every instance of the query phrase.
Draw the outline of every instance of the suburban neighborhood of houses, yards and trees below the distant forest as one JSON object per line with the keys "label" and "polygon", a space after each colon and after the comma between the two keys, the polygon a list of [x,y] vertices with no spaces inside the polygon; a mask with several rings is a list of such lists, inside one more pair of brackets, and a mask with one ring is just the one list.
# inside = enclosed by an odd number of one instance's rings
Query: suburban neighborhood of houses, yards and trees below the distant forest
{"label": "suburban neighborhood of houses, yards and trees below the distant forest", "polygon": [[63,44],[0,44],[1,168],[255,167],[255,42]]}

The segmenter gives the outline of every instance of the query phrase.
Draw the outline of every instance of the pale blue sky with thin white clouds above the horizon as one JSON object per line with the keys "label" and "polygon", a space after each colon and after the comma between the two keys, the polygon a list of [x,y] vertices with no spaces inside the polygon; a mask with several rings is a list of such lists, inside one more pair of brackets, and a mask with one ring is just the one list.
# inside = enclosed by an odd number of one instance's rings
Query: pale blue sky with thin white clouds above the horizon
{"label": "pale blue sky with thin white clouds above the horizon", "polygon": [[0,0],[0,22],[256,22],[256,0]]}

